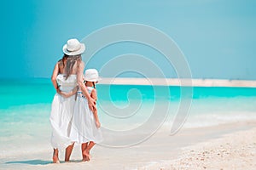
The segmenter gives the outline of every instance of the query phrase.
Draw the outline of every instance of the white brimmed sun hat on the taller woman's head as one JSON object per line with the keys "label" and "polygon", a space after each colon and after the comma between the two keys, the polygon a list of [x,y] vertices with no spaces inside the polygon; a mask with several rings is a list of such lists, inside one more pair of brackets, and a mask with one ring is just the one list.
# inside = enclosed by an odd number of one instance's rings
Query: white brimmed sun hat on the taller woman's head
{"label": "white brimmed sun hat on the taller woman's head", "polygon": [[63,53],[67,55],[83,54],[84,50],[84,43],[80,43],[79,40],[75,38],[67,40],[67,44],[63,46]]}

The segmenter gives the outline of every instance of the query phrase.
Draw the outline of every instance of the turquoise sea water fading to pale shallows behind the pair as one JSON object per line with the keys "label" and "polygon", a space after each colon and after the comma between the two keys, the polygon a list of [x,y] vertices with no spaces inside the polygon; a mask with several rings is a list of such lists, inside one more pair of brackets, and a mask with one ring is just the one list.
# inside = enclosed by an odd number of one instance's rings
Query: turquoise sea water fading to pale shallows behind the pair
{"label": "turquoise sea water fading to pale shallows behind the pair", "polygon": [[[168,132],[179,114],[180,87],[98,84],[96,89],[103,133],[147,136],[158,127]],[[31,154],[50,148],[49,113],[54,95],[49,79],[0,81],[0,158],[16,156],[16,150]],[[256,120],[256,88],[197,87],[191,101],[183,127]],[[128,142],[142,139],[135,140]]]}

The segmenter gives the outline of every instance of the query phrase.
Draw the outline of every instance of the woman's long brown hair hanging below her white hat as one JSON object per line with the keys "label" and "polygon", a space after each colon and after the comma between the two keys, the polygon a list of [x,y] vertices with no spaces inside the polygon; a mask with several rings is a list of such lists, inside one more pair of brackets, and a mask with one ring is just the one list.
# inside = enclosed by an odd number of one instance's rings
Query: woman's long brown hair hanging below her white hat
{"label": "woman's long brown hair hanging below her white hat", "polygon": [[65,65],[66,80],[71,75],[74,65],[79,67],[82,61],[81,54],[79,55],[67,55],[67,63]]}

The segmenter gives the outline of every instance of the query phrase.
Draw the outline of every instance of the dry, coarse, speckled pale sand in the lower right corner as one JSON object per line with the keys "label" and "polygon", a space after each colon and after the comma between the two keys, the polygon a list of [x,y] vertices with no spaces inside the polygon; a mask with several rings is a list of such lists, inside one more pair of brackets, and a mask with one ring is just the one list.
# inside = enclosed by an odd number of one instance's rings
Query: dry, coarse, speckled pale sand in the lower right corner
{"label": "dry, coarse, speckled pale sand in the lower right corner", "polygon": [[256,168],[256,127],[253,124],[252,128],[184,147],[177,159],[155,162],[139,169],[253,170]]}

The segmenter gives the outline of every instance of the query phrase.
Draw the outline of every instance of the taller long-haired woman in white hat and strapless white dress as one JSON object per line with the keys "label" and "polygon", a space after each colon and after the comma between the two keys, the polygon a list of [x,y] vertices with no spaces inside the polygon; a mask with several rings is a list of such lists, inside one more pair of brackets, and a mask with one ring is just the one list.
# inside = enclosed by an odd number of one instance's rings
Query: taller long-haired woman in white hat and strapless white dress
{"label": "taller long-haired woman in white hat and strapless white dress", "polygon": [[63,46],[64,56],[55,65],[51,80],[57,94],[52,102],[49,121],[52,127],[51,145],[54,148],[53,162],[59,163],[58,149],[66,148],[65,161],[69,161],[73,150],[70,129],[77,84],[89,101],[90,109],[95,107],[95,100],[90,97],[83,83],[84,62],[81,54],[85,46],[77,39],[70,39]]}

